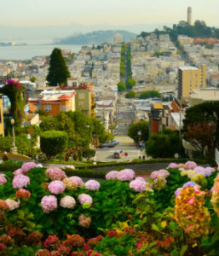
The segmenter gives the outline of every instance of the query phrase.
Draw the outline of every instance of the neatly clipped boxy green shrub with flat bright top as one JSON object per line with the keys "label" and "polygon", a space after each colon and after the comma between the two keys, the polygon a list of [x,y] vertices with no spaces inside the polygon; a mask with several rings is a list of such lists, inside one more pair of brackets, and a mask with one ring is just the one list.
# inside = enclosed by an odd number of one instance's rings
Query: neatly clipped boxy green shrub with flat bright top
{"label": "neatly clipped boxy green shrub with flat bright top", "polygon": [[48,159],[61,154],[67,147],[68,137],[64,131],[44,131],[40,136],[40,148]]}

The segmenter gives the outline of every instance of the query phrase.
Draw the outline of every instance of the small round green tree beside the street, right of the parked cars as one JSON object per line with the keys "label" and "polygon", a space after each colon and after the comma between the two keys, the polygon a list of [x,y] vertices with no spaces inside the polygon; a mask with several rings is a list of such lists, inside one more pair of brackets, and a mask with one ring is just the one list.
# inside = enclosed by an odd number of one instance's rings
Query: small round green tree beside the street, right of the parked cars
{"label": "small round green tree beside the street, right of the parked cars", "polygon": [[148,122],[141,120],[139,122],[132,123],[128,130],[128,136],[131,137],[135,143],[137,143],[140,138],[141,141],[147,141],[149,136]]}

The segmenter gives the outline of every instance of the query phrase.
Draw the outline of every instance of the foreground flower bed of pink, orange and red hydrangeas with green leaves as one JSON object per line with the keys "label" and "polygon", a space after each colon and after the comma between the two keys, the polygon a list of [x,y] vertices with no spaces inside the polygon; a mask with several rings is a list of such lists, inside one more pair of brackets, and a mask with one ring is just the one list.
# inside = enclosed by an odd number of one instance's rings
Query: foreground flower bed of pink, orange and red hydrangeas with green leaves
{"label": "foreground flower bed of pink, orange and red hydrangeas with green leaves", "polygon": [[84,183],[26,163],[0,174],[0,255],[218,255],[217,174],[187,161]]}

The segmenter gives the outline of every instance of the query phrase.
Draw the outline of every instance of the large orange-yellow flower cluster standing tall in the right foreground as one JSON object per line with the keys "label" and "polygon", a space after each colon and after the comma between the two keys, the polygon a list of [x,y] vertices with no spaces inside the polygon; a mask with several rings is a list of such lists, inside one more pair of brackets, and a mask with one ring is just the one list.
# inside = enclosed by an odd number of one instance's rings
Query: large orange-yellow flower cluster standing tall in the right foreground
{"label": "large orange-yellow flower cluster standing tall in the right foreground", "polygon": [[205,192],[200,186],[186,186],[176,196],[175,219],[191,237],[209,234],[210,212],[205,205]]}

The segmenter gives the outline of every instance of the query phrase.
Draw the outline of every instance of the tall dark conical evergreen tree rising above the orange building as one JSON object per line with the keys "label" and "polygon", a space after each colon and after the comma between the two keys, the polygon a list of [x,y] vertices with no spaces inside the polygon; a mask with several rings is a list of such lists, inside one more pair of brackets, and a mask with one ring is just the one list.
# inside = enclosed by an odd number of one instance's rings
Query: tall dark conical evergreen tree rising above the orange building
{"label": "tall dark conical evergreen tree rising above the orange building", "polygon": [[66,61],[61,54],[61,49],[55,48],[50,55],[49,73],[46,77],[49,86],[66,84],[66,79],[70,78],[70,73],[66,66]]}

